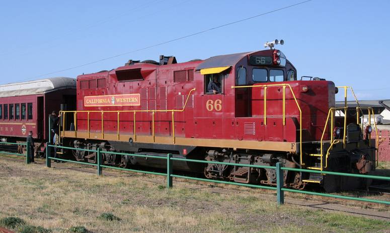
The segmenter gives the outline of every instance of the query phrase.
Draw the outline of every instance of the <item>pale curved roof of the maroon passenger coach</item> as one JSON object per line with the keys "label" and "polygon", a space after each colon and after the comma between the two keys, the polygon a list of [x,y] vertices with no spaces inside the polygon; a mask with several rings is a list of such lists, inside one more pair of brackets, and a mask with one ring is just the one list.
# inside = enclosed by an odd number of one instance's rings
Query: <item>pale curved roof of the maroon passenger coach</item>
{"label": "pale curved roof of the maroon passenger coach", "polygon": [[0,85],[0,97],[40,95],[61,89],[76,89],[76,80],[71,77],[50,77]]}

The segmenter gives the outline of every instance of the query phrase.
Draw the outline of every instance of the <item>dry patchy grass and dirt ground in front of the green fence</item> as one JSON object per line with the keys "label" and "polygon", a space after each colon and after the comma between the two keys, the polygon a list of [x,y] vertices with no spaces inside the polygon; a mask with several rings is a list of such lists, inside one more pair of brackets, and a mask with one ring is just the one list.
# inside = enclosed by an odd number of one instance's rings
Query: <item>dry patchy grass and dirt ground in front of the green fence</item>
{"label": "dry patchy grass and dirt ground in front of the green fence", "polygon": [[[390,232],[384,205],[286,194],[278,206],[274,191],[179,179],[166,189],[161,176],[103,174],[0,157],[0,218],[20,217],[51,232]],[[344,207],[331,211],[337,206]]]}

